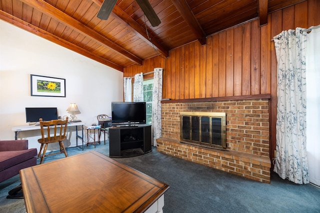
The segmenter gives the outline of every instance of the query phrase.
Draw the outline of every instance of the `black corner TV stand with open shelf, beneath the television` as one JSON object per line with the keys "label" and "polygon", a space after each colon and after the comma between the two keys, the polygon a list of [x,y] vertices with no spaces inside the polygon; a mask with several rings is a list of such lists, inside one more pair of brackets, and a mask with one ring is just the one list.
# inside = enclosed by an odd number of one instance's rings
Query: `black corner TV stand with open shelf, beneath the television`
{"label": "black corner TV stand with open shelf, beneath the television", "polygon": [[109,129],[109,157],[121,158],[121,151],[141,149],[151,152],[151,125],[120,125]]}

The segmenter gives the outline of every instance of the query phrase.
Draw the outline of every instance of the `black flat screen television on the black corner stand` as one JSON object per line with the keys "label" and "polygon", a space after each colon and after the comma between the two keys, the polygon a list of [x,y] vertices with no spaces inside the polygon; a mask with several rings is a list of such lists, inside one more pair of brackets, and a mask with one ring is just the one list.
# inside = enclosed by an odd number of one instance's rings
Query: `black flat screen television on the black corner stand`
{"label": "black flat screen television on the black corner stand", "polygon": [[145,124],[145,102],[111,102],[112,125]]}

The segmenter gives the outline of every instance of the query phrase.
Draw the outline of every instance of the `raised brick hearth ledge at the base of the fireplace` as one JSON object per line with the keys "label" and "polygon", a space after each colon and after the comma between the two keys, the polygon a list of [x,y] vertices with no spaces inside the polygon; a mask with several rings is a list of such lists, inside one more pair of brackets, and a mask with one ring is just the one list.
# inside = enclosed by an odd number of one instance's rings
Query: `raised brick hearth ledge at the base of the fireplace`
{"label": "raised brick hearth ledge at the base of the fireplace", "polygon": [[262,183],[270,183],[270,158],[249,153],[225,151],[158,138],[157,151]]}

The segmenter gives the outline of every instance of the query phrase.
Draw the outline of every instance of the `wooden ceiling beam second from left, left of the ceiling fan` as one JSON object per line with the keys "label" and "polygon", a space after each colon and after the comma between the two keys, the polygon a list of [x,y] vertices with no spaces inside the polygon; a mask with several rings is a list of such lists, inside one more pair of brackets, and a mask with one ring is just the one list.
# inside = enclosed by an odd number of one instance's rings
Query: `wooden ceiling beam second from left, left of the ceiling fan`
{"label": "wooden ceiling beam second from left, left of the ceiling fan", "polygon": [[62,22],[69,26],[71,29],[79,31],[80,33],[84,34],[85,36],[91,38],[95,42],[106,46],[107,48],[112,49],[113,51],[123,55],[128,60],[134,62],[135,64],[142,65],[142,59],[133,55],[132,53],[126,51],[122,47],[116,45],[112,41],[108,40],[107,38],[103,37],[96,31],[88,28],[81,22],[73,19],[72,17],[66,15],[62,11],[58,10],[57,8],[53,7],[51,4],[43,1],[43,0],[21,0],[23,3],[28,4],[31,7],[38,9],[40,12],[57,19],[59,22]]}

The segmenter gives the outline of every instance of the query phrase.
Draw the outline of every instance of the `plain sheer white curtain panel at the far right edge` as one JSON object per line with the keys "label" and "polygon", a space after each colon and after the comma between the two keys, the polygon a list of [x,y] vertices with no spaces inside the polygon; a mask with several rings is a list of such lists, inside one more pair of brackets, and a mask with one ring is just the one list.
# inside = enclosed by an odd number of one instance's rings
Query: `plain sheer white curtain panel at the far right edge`
{"label": "plain sheer white curtain panel at the far right edge", "polygon": [[309,182],[320,186],[320,28],[306,41],[306,156]]}

